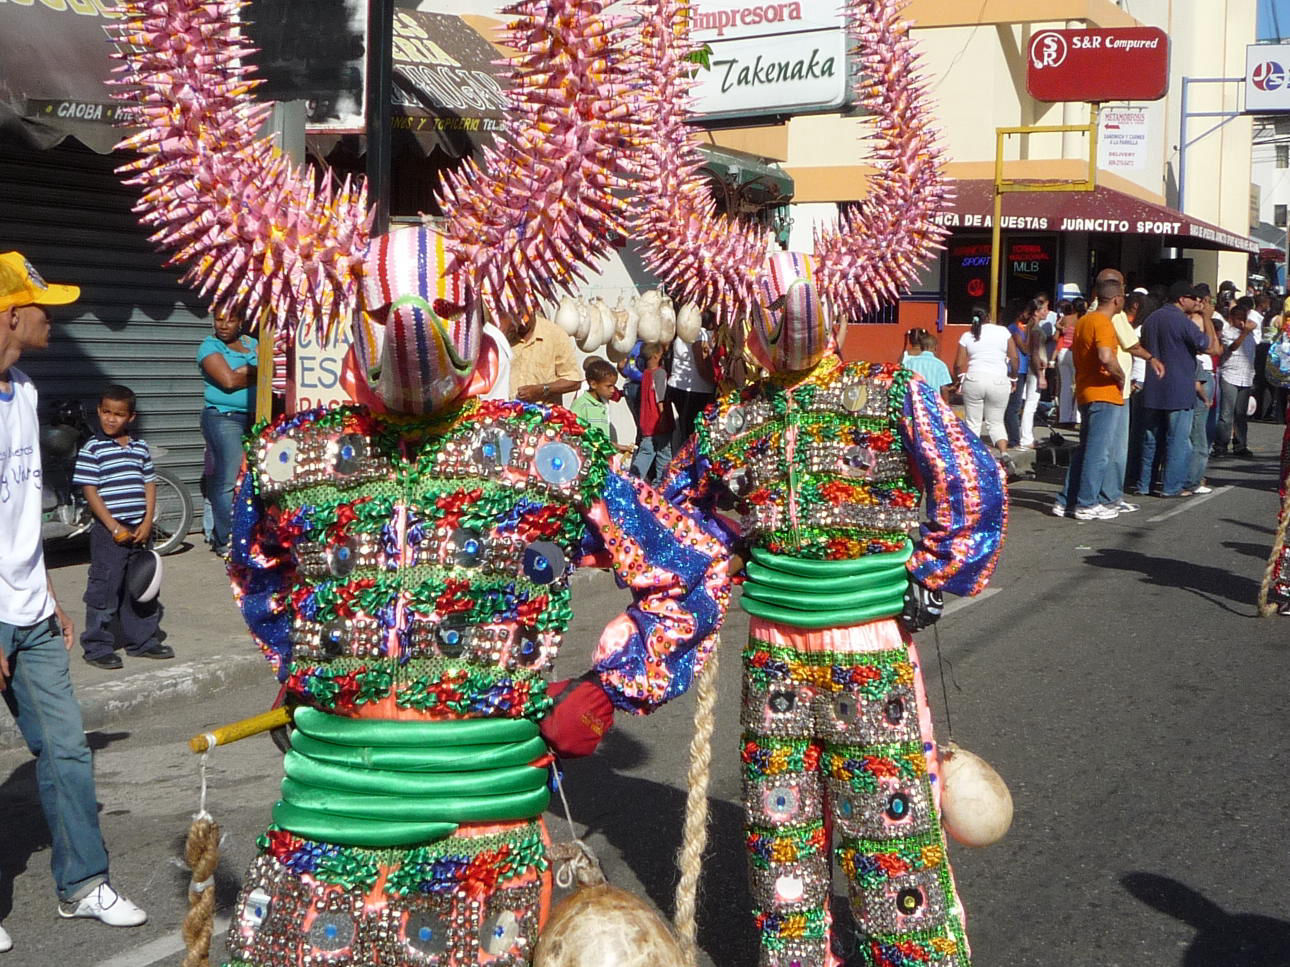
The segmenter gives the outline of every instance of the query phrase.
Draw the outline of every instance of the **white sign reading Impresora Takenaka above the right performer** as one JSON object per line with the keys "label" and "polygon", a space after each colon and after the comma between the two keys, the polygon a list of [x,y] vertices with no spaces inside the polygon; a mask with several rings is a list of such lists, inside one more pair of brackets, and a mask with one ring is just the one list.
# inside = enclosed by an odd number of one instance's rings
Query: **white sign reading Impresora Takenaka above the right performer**
{"label": "white sign reading Impresora Takenaka above the right performer", "polygon": [[846,103],[848,36],[838,0],[698,0],[690,39],[712,48],[695,115],[836,111]]}

